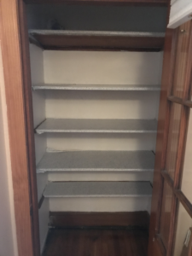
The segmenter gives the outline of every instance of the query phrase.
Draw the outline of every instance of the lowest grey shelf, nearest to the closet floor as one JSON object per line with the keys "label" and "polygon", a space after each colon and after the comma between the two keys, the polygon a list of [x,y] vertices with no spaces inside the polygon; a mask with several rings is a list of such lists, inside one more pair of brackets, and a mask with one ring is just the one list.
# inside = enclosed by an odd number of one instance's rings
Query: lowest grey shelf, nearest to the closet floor
{"label": "lowest grey shelf, nearest to the closet floor", "polygon": [[55,182],[44,189],[46,198],[62,197],[150,197],[149,182]]}

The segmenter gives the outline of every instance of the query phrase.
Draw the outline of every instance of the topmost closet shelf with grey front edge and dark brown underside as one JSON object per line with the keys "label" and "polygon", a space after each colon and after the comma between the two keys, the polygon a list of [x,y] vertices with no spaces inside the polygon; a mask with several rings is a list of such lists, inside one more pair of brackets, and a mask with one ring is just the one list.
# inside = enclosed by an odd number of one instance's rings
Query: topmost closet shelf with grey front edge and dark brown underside
{"label": "topmost closet shelf with grey front edge and dark brown underside", "polygon": [[[30,41],[44,49],[160,51],[165,33],[30,30]],[[34,38],[34,40],[32,40]]]}

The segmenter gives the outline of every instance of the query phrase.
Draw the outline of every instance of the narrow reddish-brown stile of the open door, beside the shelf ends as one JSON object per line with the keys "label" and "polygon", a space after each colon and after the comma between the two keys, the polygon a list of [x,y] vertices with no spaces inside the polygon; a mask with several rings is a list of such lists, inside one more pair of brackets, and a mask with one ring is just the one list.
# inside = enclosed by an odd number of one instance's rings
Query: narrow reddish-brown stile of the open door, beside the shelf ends
{"label": "narrow reddish-brown stile of the open door, beside the shelf ends", "polygon": [[165,167],[165,151],[167,140],[167,125],[168,125],[168,102],[167,96],[169,94],[168,88],[172,84],[172,66],[173,66],[173,44],[175,33],[171,29],[166,30],[166,40],[164,47],[163,57],[163,70],[160,91],[160,109],[158,117],[157,141],[155,151],[155,164],[154,164],[154,182],[153,182],[153,195],[150,215],[150,228],[148,240],[148,256],[163,255],[159,247],[155,234],[158,230],[159,215],[160,215],[160,192],[162,186],[162,177],[160,170]]}

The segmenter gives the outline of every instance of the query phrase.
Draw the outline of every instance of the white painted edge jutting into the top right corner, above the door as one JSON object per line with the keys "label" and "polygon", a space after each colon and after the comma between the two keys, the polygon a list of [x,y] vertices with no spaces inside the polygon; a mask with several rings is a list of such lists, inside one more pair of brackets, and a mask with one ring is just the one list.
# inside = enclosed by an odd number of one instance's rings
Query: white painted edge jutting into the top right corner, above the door
{"label": "white painted edge jutting into the top right corner, above the door", "polygon": [[173,2],[170,14],[168,28],[177,28],[183,23],[192,19],[192,2],[191,0],[177,0]]}

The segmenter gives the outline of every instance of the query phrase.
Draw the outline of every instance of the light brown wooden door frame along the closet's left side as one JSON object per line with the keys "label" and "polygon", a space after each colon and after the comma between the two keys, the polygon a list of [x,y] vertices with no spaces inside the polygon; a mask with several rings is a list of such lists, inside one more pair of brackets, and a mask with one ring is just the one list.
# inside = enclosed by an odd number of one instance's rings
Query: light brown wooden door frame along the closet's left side
{"label": "light brown wooden door frame along the closet's left side", "polygon": [[39,256],[38,196],[26,4],[0,0],[0,40],[19,256]]}

